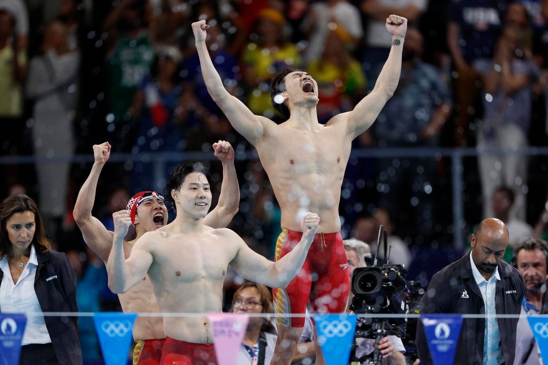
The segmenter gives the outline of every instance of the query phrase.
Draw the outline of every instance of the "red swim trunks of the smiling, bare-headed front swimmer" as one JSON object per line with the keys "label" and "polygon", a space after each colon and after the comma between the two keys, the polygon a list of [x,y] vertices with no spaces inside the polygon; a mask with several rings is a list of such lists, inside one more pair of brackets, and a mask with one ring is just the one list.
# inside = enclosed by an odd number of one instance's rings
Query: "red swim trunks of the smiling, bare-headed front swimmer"
{"label": "red swim trunks of the smiling, bare-headed front swimmer", "polygon": [[168,337],[162,351],[161,365],[216,365],[213,344],[195,344]]}

